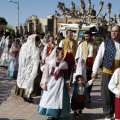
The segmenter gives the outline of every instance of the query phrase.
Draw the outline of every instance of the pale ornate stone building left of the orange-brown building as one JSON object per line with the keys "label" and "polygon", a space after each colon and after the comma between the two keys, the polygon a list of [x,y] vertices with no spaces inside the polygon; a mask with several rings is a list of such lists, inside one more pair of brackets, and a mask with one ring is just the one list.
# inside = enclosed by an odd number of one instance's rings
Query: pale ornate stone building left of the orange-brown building
{"label": "pale ornate stone building left of the orange-brown building", "polygon": [[53,33],[53,15],[48,15],[47,18],[38,18],[36,15],[29,17],[25,25],[20,25],[15,28],[15,33],[19,32],[20,36],[34,33]]}

